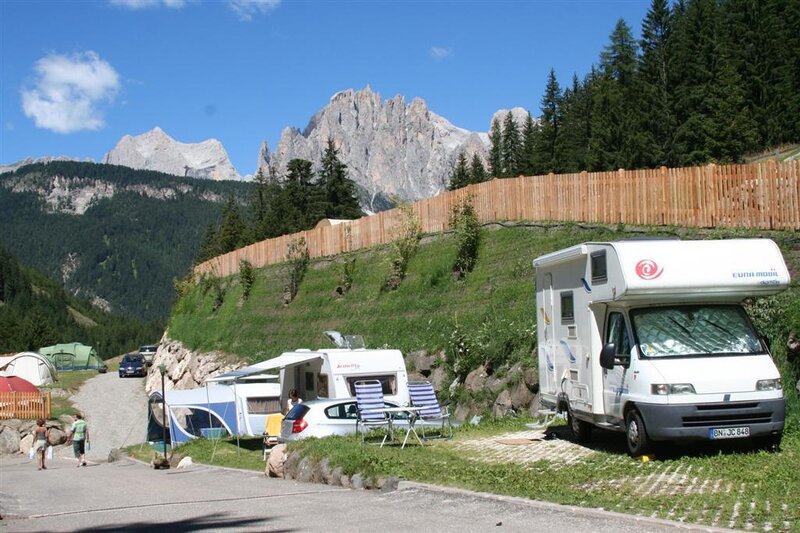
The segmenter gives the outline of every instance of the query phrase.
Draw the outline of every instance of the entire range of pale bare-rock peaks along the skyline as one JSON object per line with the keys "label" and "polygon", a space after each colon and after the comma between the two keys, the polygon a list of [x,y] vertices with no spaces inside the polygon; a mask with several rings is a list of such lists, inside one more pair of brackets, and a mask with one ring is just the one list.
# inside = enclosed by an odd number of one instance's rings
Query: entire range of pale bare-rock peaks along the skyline
{"label": "entire range of pale bare-rock peaks along the skyline", "polygon": [[[527,111],[518,107],[511,112],[521,127]],[[492,120],[502,121],[506,113],[500,110]],[[487,131],[490,125],[487,124]],[[373,212],[390,207],[397,200],[416,201],[438,194],[447,188],[460,153],[466,153],[468,158],[477,153],[485,160],[489,148],[486,132],[454,126],[430,111],[423,99],[414,98],[407,103],[397,95],[383,100],[368,86],[333,95],[302,131],[285,128],[274,151],[262,142],[257,170],[281,176],[292,159],[316,164],[329,137],[334,139],[349,177],[359,187],[363,207]],[[0,166],[0,174],[25,164],[65,159],[68,158],[29,158]],[[159,127],[141,135],[125,135],[102,162],[181,177],[251,179],[236,170],[220,141],[181,143]]]}

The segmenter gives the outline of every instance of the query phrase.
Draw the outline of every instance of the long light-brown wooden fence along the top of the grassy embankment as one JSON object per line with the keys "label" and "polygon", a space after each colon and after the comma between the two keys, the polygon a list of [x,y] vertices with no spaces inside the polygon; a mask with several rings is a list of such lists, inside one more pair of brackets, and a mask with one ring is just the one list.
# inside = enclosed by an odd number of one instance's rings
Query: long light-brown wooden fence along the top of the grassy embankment
{"label": "long light-brown wooden fence along the top of the grassy embankment", "polygon": [[[573,221],[604,224],[800,229],[800,161],[652,170],[580,172],[495,179],[413,204],[424,233],[449,229],[452,206],[466,195],[481,222]],[[344,224],[261,241],[197,265],[195,273],[229,276],[246,259],[254,267],[286,260],[303,237],[324,257],[385,244],[401,222],[398,209]]]}

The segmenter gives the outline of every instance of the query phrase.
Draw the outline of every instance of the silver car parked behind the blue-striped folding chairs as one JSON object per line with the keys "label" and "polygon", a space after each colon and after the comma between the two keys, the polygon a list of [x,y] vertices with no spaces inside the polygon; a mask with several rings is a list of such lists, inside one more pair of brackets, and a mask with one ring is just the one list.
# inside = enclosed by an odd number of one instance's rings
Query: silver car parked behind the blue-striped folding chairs
{"label": "silver car parked behind the blue-striped folding chairs", "polygon": [[[386,407],[397,407],[397,404],[386,402]],[[393,425],[405,433],[408,428],[408,415],[405,413],[395,413],[395,415]],[[279,440],[287,442],[308,437],[352,435],[356,432],[356,420],[358,420],[358,408],[355,398],[300,403],[292,407],[283,419]],[[415,427],[419,428],[422,425],[439,427],[441,424],[418,420]]]}

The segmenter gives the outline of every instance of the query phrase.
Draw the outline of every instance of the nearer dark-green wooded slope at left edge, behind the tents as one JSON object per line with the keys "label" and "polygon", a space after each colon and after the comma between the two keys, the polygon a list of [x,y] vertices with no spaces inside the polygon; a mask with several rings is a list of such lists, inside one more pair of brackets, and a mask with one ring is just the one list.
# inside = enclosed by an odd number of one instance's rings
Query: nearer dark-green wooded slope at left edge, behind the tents
{"label": "nearer dark-green wooded slope at left edge, behind the tents", "polygon": [[82,342],[107,359],[157,341],[163,326],[114,316],[70,296],[0,246],[0,353]]}

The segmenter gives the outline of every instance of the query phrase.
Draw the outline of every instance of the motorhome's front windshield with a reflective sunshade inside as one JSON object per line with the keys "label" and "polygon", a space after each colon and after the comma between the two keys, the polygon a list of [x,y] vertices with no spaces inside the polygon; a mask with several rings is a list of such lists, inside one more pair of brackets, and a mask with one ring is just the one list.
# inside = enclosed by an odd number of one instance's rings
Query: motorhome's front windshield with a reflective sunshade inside
{"label": "motorhome's front windshield with a reflective sunshade inside", "polygon": [[631,322],[643,357],[697,357],[763,353],[738,305],[634,309]]}

